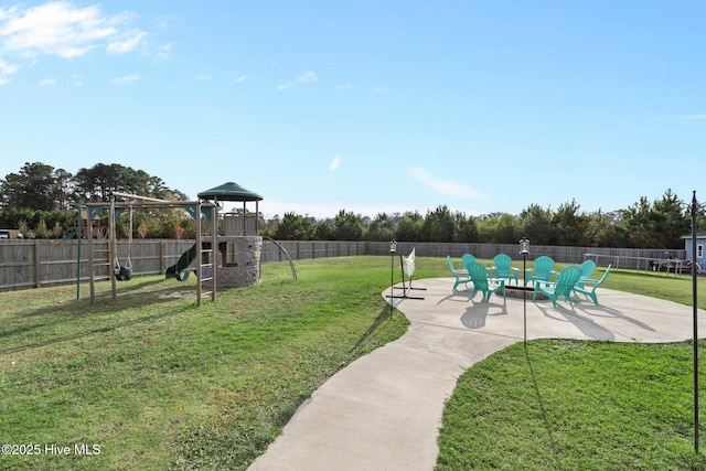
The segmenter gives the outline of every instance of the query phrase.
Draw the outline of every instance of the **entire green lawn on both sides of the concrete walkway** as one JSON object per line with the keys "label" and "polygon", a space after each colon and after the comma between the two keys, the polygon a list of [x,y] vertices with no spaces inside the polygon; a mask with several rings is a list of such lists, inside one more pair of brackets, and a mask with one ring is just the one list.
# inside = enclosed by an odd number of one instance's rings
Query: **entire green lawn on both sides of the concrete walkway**
{"label": "entire green lawn on both sides of the concrete walkway", "polygon": [[[425,257],[417,274],[450,275]],[[120,282],[116,300],[99,283],[95,306],[87,287],[81,300],[75,286],[0,293],[0,437],[41,447],[0,468],[245,469],[328,377],[407,328],[381,297],[388,257],[300,261],[298,275],[266,265],[259,286],[201,308],[180,297],[193,280],[160,277]],[[688,277],[617,270],[606,287],[691,302]],[[449,400],[439,469],[706,469],[691,352],[537,341],[491,355]]]}

